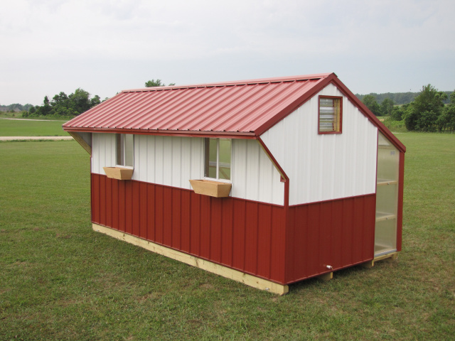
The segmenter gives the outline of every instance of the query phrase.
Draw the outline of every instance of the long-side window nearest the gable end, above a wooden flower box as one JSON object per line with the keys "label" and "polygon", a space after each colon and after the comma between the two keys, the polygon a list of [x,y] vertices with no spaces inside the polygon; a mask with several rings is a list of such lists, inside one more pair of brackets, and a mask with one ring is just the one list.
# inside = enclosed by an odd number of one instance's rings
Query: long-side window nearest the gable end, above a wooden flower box
{"label": "long-side window nearest the gable end, above a wooden flower box", "polygon": [[231,139],[205,139],[204,176],[230,181]]}

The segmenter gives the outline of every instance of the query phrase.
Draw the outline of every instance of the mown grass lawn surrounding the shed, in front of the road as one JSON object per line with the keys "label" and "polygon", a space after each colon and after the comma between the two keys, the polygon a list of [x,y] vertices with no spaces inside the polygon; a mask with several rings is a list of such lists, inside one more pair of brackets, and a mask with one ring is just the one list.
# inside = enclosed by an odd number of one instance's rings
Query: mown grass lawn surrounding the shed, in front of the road
{"label": "mown grass lawn surrounding the shed, in front of the road", "polygon": [[397,261],[282,297],[93,232],[75,141],[0,143],[0,340],[453,340],[455,134],[399,138]]}

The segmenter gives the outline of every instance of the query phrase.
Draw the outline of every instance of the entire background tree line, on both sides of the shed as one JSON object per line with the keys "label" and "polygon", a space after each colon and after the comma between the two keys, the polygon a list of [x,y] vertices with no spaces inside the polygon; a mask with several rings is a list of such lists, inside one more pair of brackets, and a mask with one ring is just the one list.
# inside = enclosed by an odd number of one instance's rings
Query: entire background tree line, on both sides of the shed
{"label": "entire background tree line, on both sides of the shed", "polygon": [[[175,83],[168,84],[172,85]],[[164,82],[159,79],[145,82],[145,87],[164,86],[166,86]],[[387,92],[356,96],[373,114],[387,117],[385,123],[403,122],[409,131],[455,131],[455,92],[441,92],[432,85],[426,85],[417,93]],[[55,94],[52,100],[45,96],[43,105],[11,104],[0,106],[0,109],[23,110],[23,117],[74,117],[101,102],[100,96],[91,97],[89,92],[78,88],[69,95],[65,92]]]}

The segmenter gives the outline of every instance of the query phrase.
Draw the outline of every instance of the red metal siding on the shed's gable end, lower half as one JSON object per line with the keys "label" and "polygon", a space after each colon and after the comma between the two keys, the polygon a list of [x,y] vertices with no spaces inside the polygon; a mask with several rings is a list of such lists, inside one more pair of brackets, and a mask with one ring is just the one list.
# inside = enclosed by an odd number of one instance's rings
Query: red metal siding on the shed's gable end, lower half
{"label": "red metal siding on the shed's gable end, lower half", "polygon": [[373,259],[375,195],[289,207],[287,283]]}

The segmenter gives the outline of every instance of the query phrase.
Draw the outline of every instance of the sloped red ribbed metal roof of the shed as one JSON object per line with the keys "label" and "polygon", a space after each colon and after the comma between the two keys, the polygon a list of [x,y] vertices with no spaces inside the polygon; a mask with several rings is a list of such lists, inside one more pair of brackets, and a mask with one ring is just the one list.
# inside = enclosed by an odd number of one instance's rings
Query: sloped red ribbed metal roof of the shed
{"label": "sloped red ribbed metal roof of the shed", "polygon": [[331,75],[124,90],[63,129],[257,136],[259,129],[299,107],[302,97]]}

